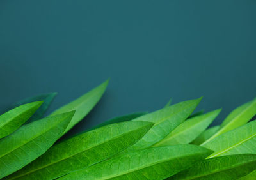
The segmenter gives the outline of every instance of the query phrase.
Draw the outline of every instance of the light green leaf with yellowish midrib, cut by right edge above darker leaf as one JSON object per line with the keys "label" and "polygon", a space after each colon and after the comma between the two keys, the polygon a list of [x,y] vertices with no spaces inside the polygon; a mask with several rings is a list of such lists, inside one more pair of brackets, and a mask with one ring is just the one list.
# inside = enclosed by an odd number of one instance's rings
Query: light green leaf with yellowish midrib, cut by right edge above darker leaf
{"label": "light green leaf with yellowish midrib, cut by right edge above darker leaf", "polygon": [[256,121],[245,124],[202,145],[212,149],[209,158],[230,154],[256,154]]}

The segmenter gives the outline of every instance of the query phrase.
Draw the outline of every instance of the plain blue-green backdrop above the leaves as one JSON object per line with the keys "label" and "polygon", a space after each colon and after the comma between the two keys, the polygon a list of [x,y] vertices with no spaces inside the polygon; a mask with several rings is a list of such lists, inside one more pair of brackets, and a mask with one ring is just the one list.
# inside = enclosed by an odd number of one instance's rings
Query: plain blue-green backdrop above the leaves
{"label": "plain blue-green backdrop above the leaves", "polygon": [[204,96],[223,108],[256,95],[256,1],[0,1],[0,107],[57,91],[51,109],[111,77],[71,133],[111,117]]}

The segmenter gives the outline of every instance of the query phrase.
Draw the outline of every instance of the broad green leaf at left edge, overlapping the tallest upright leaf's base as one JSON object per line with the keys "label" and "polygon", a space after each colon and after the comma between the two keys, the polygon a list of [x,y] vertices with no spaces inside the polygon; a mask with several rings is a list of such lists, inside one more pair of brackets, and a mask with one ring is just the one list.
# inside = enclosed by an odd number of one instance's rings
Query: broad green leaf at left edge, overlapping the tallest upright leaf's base
{"label": "broad green leaf at left edge, overlapping the tallest upright leaf's base", "polygon": [[45,153],[63,134],[74,112],[26,124],[0,140],[0,178],[7,176]]}

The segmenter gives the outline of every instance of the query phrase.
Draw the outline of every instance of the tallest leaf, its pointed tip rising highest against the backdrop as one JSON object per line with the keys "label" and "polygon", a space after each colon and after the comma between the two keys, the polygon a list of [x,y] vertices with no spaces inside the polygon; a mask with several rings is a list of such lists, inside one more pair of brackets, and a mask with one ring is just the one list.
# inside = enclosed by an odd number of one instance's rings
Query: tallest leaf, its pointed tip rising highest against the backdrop
{"label": "tallest leaf, its pointed tip rising highest against the backdrop", "polygon": [[67,129],[63,134],[67,133],[68,130],[70,130],[79,121],[81,121],[93,109],[93,107],[97,104],[97,102],[102,97],[104,91],[106,90],[108,82],[109,79],[100,84],[100,86],[95,87],[88,93],[84,94],[80,98],[77,98],[76,100],[68,103],[67,105],[64,105],[60,109],[57,109],[54,112],[52,112],[50,116],[61,114],[63,112],[68,112],[70,110],[76,110],[74,117],[70,121],[70,124],[68,124]]}

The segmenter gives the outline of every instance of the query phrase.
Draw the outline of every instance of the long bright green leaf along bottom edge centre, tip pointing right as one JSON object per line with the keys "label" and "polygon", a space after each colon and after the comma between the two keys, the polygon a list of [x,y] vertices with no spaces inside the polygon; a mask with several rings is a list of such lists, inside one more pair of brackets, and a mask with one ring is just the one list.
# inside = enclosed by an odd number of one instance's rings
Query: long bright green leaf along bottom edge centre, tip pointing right
{"label": "long bright green leaf along bottom edge centre, tip pointing right", "polygon": [[191,144],[151,147],[116,156],[60,179],[164,179],[211,153]]}

